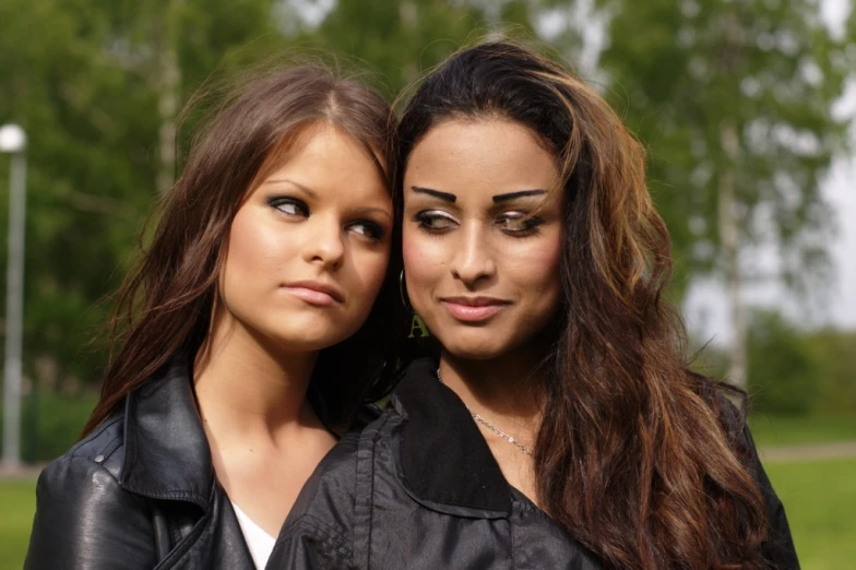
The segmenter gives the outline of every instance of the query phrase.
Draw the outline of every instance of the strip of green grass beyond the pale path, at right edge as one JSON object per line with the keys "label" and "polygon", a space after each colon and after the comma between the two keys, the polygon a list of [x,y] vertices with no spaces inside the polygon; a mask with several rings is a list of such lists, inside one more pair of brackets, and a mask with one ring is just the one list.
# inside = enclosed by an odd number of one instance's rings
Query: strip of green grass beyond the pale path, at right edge
{"label": "strip of green grass beyond the pale path, at right edge", "polygon": [[759,447],[856,441],[856,415],[788,417],[756,414],[749,418],[749,428]]}

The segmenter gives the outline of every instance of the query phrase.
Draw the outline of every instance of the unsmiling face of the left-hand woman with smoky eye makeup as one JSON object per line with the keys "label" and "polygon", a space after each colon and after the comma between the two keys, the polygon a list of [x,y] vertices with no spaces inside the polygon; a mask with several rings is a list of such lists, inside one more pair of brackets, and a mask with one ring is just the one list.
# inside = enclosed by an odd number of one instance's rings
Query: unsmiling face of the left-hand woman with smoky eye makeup
{"label": "unsmiling face of the left-hand woman with smoky eye makeup", "polygon": [[360,144],[309,127],[235,216],[221,275],[226,318],[288,351],[350,336],[383,282],[391,226],[384,180]]}

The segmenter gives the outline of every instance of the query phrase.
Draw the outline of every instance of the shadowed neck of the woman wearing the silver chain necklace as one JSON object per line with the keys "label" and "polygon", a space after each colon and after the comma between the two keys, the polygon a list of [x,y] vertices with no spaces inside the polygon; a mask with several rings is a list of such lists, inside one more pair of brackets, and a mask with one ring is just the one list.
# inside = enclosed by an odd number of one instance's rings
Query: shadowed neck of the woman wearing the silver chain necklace
{"label": "shadowed neck of the woman wearing the silver chain necklace", "polygon": [[534,432],[540,425],[544,402],[540,358],[532,349],[488,360],[459,358],[443,351],[440,376],[471,411]]}

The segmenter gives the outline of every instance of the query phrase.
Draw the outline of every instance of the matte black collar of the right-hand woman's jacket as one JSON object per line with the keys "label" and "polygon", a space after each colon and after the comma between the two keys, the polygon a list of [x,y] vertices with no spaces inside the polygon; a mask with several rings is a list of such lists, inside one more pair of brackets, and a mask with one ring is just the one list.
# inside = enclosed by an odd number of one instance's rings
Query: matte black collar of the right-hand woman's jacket
{"label": "matte black collar of the right-hand woman's jacket", "polygon": [[406,418],[401,465],[411,491],[435,503],[511,512],[511,488],[466,406],[437,379],[437,363],[415,360],[395,389]]}

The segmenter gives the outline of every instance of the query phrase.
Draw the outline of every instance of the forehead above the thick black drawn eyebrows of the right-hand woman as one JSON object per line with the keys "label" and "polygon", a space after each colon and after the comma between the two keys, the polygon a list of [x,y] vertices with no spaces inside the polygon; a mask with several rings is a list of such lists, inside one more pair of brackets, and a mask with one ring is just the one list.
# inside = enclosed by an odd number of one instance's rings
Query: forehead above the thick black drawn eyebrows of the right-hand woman
{"label": "forehead above the thick black drawn eyebrows of the right-hand woman", "polygon": [[532,130],[506,119],[453,119],[432,127],[414,147],[404,173],[406,188],[445,190],[459,198],[551,190],[557,180],[552,153]]}

